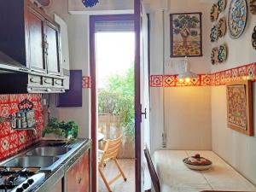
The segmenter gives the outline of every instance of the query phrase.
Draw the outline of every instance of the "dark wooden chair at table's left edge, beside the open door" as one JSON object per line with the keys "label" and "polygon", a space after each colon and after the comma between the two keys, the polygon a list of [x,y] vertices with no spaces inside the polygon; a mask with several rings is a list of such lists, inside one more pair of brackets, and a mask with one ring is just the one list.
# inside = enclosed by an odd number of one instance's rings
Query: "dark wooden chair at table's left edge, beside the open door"
{"label": "dark wooden chair at table's left edge, beside the open door", "polygon": [[154,190],[155,190],[155,192],[160,192],[159,178],[157,176],[157,173],[155,172],[154,165],[153,165],[153,162],[151,160],[151,156],[149,154],[147,146],[144,149],[144,154],[145,154],[145,157],[146,157],[146,160],[147,160],[148,170],[149,170],[149,173],[150,173],[150,177],[151,177],[152,183],[154,185]]}

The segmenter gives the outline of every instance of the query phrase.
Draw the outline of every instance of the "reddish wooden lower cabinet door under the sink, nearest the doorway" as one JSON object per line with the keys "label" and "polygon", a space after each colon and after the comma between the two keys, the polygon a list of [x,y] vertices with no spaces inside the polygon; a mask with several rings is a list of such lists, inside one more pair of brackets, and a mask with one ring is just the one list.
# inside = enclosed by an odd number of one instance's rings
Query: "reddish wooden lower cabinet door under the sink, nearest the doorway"
{"label": "reddish wooden lower cabinet door under the sink, nearest the doorway", "polygon": [[67,192],[89,192],[90,190],[90,155],[86,152],[67,171]]}

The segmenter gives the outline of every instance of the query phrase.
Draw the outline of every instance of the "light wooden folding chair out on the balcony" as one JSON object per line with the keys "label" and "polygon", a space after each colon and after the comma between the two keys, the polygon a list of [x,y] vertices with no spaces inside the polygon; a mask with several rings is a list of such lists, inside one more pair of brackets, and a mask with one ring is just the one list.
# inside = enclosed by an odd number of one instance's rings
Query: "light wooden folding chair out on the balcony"
{"label": "light wooden folding chair out on the balcony", "polygon": [[[119,177],[123,177],[125,181],[127,180],[127,178],[125,177],[125,173],[119,166],[119,162],[116,159],[117,154],[119,153],[119,148],[121,146],[121,143],[122,143],[122,136],[117,139],[107,140],[104,150],[102,152],[101,161],[99,163],[99,172],[103,179],[103,182],[105,183],[105,185],[108,189],[108,192],[112,192],[109,185],[111,185],[113,182],[115,182]],[[104,168],[104,166],[106,166],[106,162],[108,160],[113,160],[113,162],[115,163],[115,165],[117,166],[117,168],[120,172],[119,175],[117,175],[116,177],[113,177],[113,179],[110,181],[107,180],[107,178],[104,176],[104,174],[102,172],[102,169]]]}

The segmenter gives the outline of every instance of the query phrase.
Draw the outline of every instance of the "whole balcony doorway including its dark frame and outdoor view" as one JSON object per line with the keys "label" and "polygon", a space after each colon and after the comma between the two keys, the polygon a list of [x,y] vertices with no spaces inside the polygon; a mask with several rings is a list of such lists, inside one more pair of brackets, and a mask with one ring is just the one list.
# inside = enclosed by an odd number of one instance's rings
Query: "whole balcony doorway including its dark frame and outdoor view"
{"label": "whole balcony doorway including its dark frame and outdoor view", "polygon": [[[110,187],[135,192],[134,60],[133,15],[90,16],[92,191],[108,191],[98,172],[98,152],[104,149],[105,140],[122,136],[118,160],[127,181],[119,177]],[[102,172],[110,181],[118,169],[110,160],[105,165]]]}

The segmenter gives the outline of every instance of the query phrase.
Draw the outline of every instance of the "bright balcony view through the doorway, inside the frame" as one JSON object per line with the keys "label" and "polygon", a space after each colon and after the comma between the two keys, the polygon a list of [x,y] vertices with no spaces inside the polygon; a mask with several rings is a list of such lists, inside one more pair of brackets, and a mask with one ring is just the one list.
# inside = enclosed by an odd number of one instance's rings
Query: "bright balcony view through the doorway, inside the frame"
{"label": "bright balcony view through the doorway, inside the frame", "polygon": [[[105,28],[108,24],[101,25]],[[112,191],[135,192],[135,39],[134,32],[120,30],[96,32],[97,154],[100,161],[107,141],[122,137],[117,160],[127,180],[119,177],[109,186]],[[108,192],[102,177],[110,183],[119,170],[113,160],[106,160],[102,173],[98,176],[98,192]]]}

